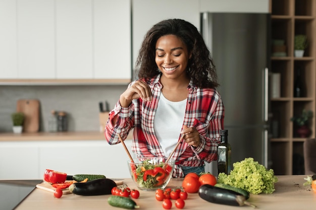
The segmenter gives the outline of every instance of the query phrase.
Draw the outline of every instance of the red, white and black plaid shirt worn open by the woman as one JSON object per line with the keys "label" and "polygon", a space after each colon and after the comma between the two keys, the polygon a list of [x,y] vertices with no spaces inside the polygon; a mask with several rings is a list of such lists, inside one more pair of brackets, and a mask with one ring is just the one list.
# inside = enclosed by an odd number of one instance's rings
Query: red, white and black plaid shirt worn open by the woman
{"label": "red, white and black plaid shirt worn open by the woman", "polygon": [[[137,157],[164,157],[165,154],[153,128],[153,119],[162,89],[160,75],[146,82],[152,91],[152,101],[135,99],[128,108],[121,107],[118,101],[110,112],[104,134],[108,143],[114,145],[120,143],[118,133],[125,140],[129,131],[134,128],[132,151]],[[183,125],[196,127],[201,143],[197,148],[185,142],[180,144],[172,157],[176,160],[173,177],[183,177],[183,171],[178,165],[196,167],[203,165],[203,161],[209,163],[217,160],[220,130],[224,129],[224,105],[220,94],[215,89],[199,89],[192,84],[192,81],[188,85],[188,90]],[[118,115],[117,123],[113,125],[112,119],[115,115]]]}

